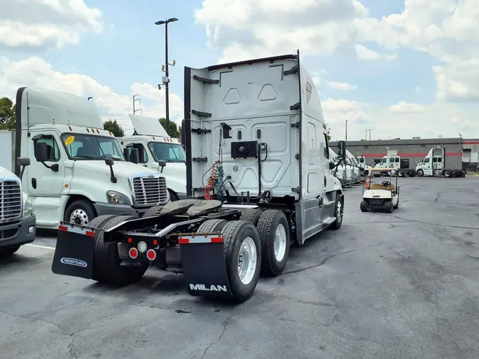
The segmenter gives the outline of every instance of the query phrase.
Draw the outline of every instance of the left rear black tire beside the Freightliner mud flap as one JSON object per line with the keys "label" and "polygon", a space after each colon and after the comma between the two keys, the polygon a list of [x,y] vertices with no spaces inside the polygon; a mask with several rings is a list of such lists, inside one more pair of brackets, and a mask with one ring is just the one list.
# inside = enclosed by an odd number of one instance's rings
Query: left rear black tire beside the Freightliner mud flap
{"label": "left rear black tire beside the Freightliner mud flap", "polygon": [[[134,216],[101,216],[96,228],[108,229],[117,224],[136,219]],[[93,257],[93,280],[108,285],[131,285],[141,280],[148,270],[148,264],[134,267],[120,265],[120,257],[116,242],[104,242],[104,231],[97,231],[95,235],[95,252]]]}

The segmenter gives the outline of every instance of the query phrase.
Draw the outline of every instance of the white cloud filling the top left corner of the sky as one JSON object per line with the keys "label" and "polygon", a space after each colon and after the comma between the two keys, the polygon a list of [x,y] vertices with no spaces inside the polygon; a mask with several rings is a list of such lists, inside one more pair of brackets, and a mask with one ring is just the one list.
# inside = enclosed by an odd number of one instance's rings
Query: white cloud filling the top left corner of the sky
{"label": "white cloud filling the top left corner of the sky", "polygon": [[46,50],[101,32],[101,11],[83,0],[0,0],[0,48]]}

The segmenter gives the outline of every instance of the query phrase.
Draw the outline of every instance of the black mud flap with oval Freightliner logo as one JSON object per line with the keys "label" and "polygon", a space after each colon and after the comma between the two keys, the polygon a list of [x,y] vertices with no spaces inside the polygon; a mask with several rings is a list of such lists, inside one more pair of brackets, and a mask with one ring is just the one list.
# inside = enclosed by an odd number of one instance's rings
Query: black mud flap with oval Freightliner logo
{"label": "black mud flap with oval Freightliner logo", "polygon": [[52,272],[92,279],[94,250],[94,229],[61,223],[58,226]]}

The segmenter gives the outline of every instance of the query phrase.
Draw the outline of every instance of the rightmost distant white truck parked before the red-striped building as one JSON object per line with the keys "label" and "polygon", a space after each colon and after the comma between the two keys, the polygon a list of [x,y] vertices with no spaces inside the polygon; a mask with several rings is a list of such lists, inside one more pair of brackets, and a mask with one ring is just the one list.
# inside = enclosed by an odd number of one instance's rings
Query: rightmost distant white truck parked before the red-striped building
{"label": "rightmost distant white truck parked before the red-striped building", "polygon": [[416,165],[416,172],[419,177],[466,177],[461,156],[446,157],[443,147],[431,148],[424,160]]}

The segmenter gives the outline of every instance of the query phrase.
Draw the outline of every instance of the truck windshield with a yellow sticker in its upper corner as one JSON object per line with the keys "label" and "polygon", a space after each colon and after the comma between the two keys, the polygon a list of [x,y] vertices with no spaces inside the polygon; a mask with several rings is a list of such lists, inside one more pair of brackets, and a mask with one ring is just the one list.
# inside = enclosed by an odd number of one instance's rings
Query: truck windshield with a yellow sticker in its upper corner
{"label": "truck windshield with a yellow sticker in its upper corner", "polygon": [[115,138],[63,133],[62,143],[72,160],[104,160],[105,158],[125,160]]}

